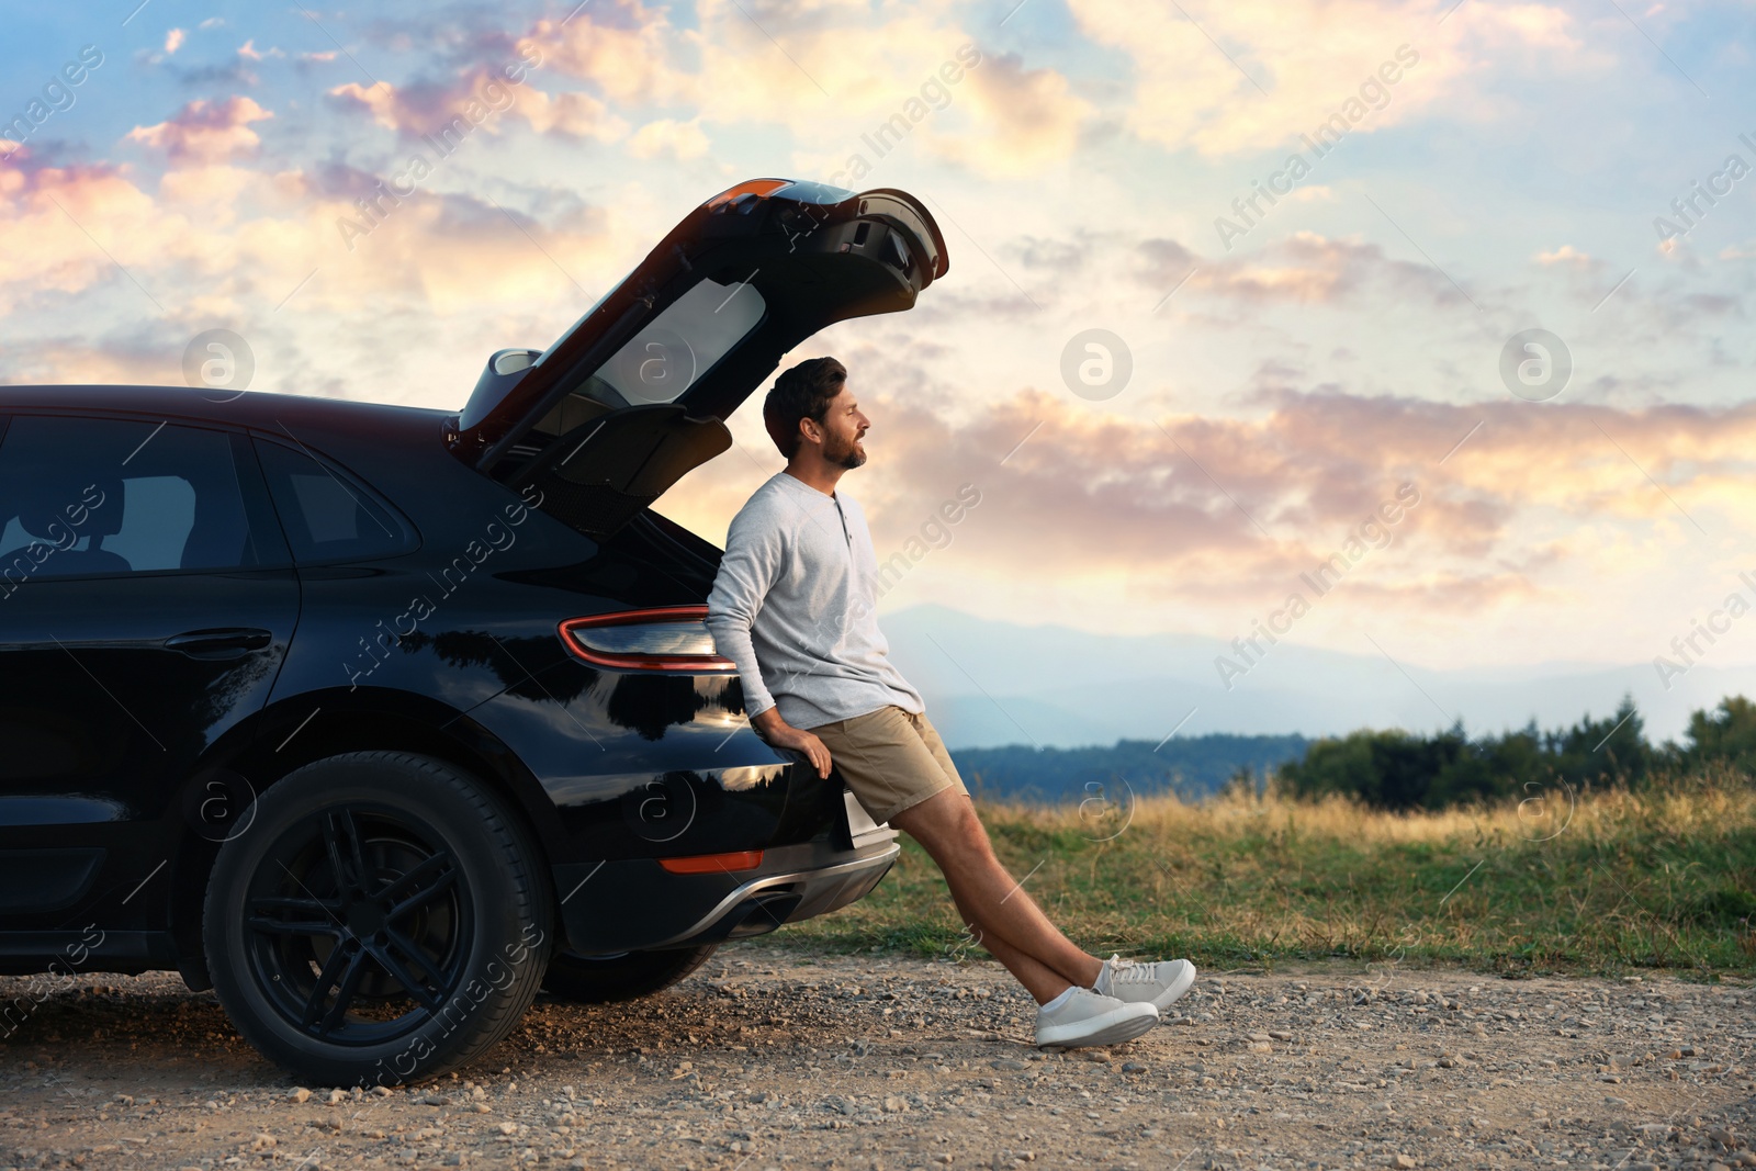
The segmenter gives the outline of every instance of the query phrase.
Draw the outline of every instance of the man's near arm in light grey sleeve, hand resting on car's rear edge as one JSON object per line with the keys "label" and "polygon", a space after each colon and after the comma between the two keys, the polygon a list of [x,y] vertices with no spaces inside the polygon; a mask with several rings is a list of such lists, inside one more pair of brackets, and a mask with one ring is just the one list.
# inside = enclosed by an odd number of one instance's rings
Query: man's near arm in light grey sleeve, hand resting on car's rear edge
{"label": "man's near arm in light grey sleeve, hand resting on car's rear edge", "polygon": [[[750,518],[739,518],[750,520]],[[781,572],[785,555],[781,534],[773,523],[732,523],[725,535],[725,557],[708,595],[708,632],[720,655],[738,665],[745,685],[745,711],[750,725],[776,748],[802,751],[818,776],[829,776],[829,750],[811,732],[781,720],[774,697],[762,683],[762,667],[750,639],[750,627],[762,613],[762,602]]]}

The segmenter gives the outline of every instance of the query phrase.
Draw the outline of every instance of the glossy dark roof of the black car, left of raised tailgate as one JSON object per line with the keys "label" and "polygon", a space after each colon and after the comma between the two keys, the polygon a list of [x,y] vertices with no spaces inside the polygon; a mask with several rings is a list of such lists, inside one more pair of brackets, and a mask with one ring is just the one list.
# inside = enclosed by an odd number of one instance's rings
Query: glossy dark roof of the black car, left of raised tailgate
{"label": "glossy dark roof of the black car, left of raised tailgate", "polygon": [[190,386],[0,386],[0,413],[72,411],[156,414],[276,432],[291,423],[344,434],[420,430],[432,434],[453,411],[390,402],[320,399],[269,392],[193,390]]}

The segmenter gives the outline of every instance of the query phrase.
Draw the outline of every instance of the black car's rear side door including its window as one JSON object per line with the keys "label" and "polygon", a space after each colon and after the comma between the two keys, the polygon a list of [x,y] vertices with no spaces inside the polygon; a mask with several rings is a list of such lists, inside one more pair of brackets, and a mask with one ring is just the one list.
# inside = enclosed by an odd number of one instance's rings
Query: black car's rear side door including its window
{"label": "black car's rear side door including its window", "polygon": [[191,802],[197,762],[262,708],[297,618],[299,583],[242,435],[11,420],[0,930],[163,927],[174,843],[186,827],[223,836],[248,797],[228,785],[218,804]]}

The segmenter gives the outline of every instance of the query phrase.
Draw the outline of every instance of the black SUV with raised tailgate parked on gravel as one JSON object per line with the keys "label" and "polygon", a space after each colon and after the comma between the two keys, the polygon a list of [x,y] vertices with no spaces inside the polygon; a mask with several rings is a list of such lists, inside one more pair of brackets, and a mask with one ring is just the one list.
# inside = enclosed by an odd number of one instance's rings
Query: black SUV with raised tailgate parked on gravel
{"label": "black SUV with raised tailgate parked on gravel", "polygon": [[750,730],[720,550],[650,506],[945,270],[903,191],[759,179],[462,414],[0,388],[0,971],[176,969],[395,1083],[862,897],[896,832]]}

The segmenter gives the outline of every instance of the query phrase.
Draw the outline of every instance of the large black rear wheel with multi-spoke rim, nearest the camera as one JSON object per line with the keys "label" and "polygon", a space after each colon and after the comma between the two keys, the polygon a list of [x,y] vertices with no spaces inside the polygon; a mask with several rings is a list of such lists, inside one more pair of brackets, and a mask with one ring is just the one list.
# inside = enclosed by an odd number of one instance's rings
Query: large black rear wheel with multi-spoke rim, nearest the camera
{"label": "large black rear wheel with multi-spoke rim, nearest the camera", "polygon": [[356,751],[297,769],[221,846],[202,934],[237,1031],[313,1085],[399,1085],[499,1045],[553,915],[530,834],[458,769]]}

